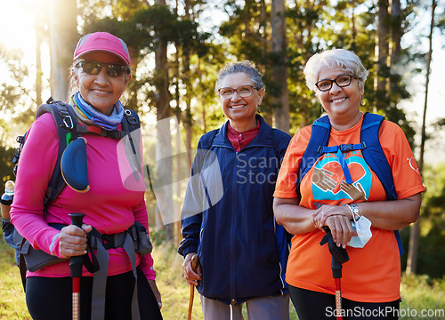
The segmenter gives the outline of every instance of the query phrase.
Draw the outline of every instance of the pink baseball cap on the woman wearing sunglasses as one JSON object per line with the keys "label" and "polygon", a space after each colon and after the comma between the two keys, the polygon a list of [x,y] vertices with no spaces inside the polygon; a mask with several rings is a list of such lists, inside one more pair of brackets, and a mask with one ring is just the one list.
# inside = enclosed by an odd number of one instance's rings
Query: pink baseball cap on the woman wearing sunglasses
{"label": "pink baseball cap on the woman wearing sunglasses", "polygon": [[77,60],[81,55],[93,51],[105,51],[116,54],[117,57],[125,61],[128,67],[130,66],[130,54],[125,42],[108,32],[94,32],[80,38],[74,51],[73,60]]}

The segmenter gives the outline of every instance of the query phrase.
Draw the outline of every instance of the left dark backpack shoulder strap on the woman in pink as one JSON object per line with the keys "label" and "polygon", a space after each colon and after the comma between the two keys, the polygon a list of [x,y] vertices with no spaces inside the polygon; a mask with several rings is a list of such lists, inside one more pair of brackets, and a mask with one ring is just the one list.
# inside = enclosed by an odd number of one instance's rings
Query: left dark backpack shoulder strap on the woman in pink
{"label": "left dark backpack shoulder strap on the woman in pink", "polygon": [[66,183],[61,176],[61,156],[65,148],[67,148],[69,140],[77,138],[77,116],[73,108],[66,103],[56,100],[48,100],[48,103],[37,108],[36,118],[51,113],[57,127],[59,135],[59,152],[57,154],[57,161],[54,166],[53,174],[51,175],[48,188],[46,188],[46,195],[44,196],[44,204],[51,203],[65,188]]}

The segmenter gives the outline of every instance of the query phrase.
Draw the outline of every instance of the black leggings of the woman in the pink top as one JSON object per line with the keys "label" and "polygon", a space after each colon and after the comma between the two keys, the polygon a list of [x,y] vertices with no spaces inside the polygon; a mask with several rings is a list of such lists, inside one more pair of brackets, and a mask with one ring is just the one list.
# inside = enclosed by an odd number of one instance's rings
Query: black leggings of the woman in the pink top
{"label": "black leggings of the woman in the pink top", "polygon": [[[151,291],[147,278],[140,268],[138,273],[138,301],[142,320],[162,319],[158,301]],[[91,293],[93,277],[80,280],[80,318],[91,319]],[[134,292],[133,271],[107,278],[105,300],[106,320],[131,320]],[[30,276],[27,279],[26,300],[29,314],[34,320],[72,319],[71,277]]]}

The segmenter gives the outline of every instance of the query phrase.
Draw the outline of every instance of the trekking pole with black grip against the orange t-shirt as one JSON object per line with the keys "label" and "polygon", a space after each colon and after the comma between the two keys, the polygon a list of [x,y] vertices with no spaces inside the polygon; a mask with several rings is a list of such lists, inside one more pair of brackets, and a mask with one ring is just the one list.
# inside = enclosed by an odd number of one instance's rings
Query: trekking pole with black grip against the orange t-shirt
{"label": "trekking pole with black grip against the orange t-shirt", "polygon": [[343,320],[342,316],[342,268],[344,262],[349,260],[348,252],[343,247],[337,247],[336,243],[332,239],[331,230],[328,227],[324,227],[326,231],[326,235],[320,242],[320,245],[327,244],[329,252],[332,255],[331,260],[331,269],[332,269],[332,277],[335,281],[336,287],[336,320]]}

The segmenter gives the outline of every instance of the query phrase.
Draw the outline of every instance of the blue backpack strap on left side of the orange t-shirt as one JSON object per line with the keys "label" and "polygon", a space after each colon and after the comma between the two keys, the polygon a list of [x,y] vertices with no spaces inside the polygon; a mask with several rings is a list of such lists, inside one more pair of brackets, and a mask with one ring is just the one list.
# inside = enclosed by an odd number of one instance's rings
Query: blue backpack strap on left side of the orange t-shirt
{"label": "blue backpack strap on left side of the orange t-shirt", "polygon": [[311,170],[313,164],[315,164],[317,159],[322,155],[321,149],[328,146],[330,132],[331,124],[328,116],[322,116],[312,124],[311,139],[303,153],[296,177],[296,194],[299,197],[301,197],[300,184],[306,173]]}

